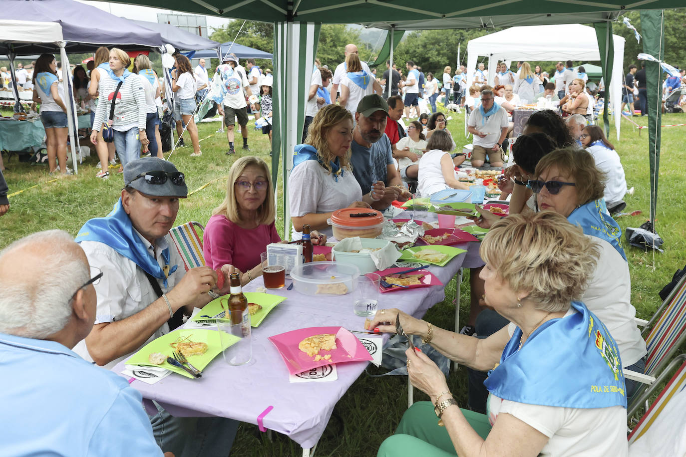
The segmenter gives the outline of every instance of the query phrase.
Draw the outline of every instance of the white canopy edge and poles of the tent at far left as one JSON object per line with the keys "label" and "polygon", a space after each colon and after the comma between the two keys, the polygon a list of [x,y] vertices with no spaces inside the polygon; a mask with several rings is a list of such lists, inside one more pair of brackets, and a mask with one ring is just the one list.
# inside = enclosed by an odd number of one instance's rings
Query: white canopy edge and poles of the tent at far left
{"label": "white canopy edge and poles of the tent at far left", "polygon": [[[78,135],[76,134],[75,124],[75,104],[73,92],[69,86],[71,75],[69,74],[69,59],[64,46],[67,44],[62,36],[62,26],[56,22],[39,21],[16,21],[14,19],[0,20],[0,45],[9,47],[12,43],[51,43],[60,48],[60,60],[62,61],[62,87],[64,88],[64,105],[67,107],[67,120],[69,123],[69,144],[71,145],[71,163],[74,172],[78,173],[78,162],[76,147],[78,146]],[[14,73],[14,53],[9,52],[10,73],[12,75],[12,87],[14,88],[14,99],[19,103],[19,90],[17,89]],[[21,105],[20,105],[21,106]]]}

